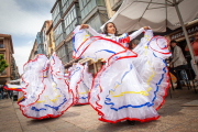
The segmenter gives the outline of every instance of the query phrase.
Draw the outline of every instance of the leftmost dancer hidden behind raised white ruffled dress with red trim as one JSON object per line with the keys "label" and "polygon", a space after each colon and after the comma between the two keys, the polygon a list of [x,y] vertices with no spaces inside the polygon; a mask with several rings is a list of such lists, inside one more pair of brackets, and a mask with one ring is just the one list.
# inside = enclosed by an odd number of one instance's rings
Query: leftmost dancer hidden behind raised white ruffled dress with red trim
{"label": "leftmost dancer hidden behind raised white ruffled dress with red trim", "polygon": [[28,118],[57,118],[73,106],[74,95],[64,78],[63,64],[55,53],[50,61],[45,55],[36,55],[28,62],[22,84],[15,89],[8,85],[7,89],[24,94],[23,100],[18,103]]}

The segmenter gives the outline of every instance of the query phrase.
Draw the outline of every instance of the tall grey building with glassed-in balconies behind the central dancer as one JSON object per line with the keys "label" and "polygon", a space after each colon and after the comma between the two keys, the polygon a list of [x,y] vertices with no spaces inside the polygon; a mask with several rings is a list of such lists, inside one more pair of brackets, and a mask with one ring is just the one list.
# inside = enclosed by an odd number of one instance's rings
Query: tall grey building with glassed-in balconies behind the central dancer
{"label": "tall grey building with glassed-in balconies behind the central dancer", "polygon": [[101,33],[100,26],[108,21],[108,13],[105,0],[56,0],[52,10],[55,51],[62,59],[65,68],[75,62],[81,64],[88,62],[89,72],[96,73],[99,63],[95,64],[89,59],[73,58],[73,31],[76,25],[87,23]]}

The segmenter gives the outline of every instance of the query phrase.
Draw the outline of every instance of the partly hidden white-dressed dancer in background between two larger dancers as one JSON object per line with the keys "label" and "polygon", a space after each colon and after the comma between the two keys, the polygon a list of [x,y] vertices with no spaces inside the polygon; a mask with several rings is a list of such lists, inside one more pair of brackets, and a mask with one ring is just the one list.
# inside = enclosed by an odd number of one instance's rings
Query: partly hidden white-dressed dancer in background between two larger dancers
{"label": "partly hidden white-dressed dancer in background between two larger dancers", "polygon": [[69,88],[74,91],[74,105],[87,105],[92,75],[88,73],[88,65],[74,63],[69,68]]}

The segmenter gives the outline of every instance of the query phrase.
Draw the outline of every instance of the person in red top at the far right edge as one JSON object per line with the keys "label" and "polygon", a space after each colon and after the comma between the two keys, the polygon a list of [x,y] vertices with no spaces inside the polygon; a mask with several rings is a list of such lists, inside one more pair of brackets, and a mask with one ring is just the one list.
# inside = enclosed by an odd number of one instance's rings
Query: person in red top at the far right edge
{"label": "person in red top at the far right edge", "polygon": [[[198,32],[195,33],[195,40],[191,42],[193,48],[194,48],[194,55],[195,55],[195,61],[198,63]],[[188,45],[186,45],[185,51],[189,51]],[[195,72],[195,64],[191,59],[191,68]],[[196,72],[195,72],[196,74]],[[198,80],[198,75],[196,74],[195,80]]]}

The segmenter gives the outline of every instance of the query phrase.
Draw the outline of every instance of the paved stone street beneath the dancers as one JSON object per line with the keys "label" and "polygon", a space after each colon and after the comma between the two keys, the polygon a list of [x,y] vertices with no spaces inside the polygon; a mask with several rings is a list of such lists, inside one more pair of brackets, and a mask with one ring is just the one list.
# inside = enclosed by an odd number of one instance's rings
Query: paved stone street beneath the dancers
{"label": "paved stone street beneath the dancers", "polygon": [[0,132],[197,132],[198,103],[189,102],[198,100],[198,94],[187,88],[172,94],[173,98],[170,99],[168,92],[164,106],[158,110],[161,118],[157,121],[136,122],[135,125],[129,125],[127,122],[117,124],[101,122],[89,105],[74,106],[57,119],[28,119],[22,116],[15,101],[4,99],[0,100]]}

